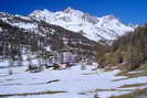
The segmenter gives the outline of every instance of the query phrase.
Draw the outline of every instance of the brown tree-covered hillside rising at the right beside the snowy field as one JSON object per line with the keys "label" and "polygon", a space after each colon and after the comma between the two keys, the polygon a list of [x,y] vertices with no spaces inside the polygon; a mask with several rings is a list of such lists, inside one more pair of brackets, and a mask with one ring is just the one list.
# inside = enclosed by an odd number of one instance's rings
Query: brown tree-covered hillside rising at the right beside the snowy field
{"label": "brown tree-covered hillside rising at the right beside the snowy field", "polygon": [[98,58],[103,66],[116,65],[126,70],[146,65],[147,26],[138,26],[134,32],[118,37]]}

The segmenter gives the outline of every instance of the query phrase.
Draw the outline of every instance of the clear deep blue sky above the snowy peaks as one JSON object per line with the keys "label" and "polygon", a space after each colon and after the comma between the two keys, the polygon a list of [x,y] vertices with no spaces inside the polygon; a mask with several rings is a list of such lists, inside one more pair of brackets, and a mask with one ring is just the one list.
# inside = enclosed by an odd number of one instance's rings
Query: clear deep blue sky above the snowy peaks
{"label": "clear deep blue sky above the snowy peaks", "polygon": [[126,24],[147,22],[147,0],[0,0],[0,11],[28,15],[35,9],[50,11],[71,7],[90,14],[113,14]]}

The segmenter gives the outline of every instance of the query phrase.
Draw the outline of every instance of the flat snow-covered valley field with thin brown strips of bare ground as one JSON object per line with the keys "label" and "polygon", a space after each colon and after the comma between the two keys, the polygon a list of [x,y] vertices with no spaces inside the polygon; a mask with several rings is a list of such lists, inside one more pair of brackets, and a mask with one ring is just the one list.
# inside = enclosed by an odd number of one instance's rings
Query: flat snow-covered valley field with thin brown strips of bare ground
{"label": "flat snow-covered valley field with thin brown strips of bare ground", "polygon": [[[118,69],[104,72],[93,68],[95,66],[88,65],[82,70],[81,64],[77,64],[62,70],[29,73],[22,66],[13,68],[13,75],[8,75],[8,68],[0,68],[0,95],[11,95],[4,98],[94,98],[95,95],[107,98],[147,87],[119,88],[147,83],[147,77],[123,79],[126,77],[115,76],[120,72]],[[116,79],[123,80],[113,81]]]}

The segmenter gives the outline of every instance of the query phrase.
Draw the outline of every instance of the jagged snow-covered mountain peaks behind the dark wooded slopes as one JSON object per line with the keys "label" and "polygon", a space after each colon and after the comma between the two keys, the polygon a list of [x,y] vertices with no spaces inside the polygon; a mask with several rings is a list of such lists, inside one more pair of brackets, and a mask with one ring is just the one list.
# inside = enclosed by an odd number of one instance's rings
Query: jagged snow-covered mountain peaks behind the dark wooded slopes
{"label": "jagged snow-covered mountain peaks behind the dark wooded slopes", "polygon": [[114,15],[96,18],[71,8],[57,12],[51,12],[46,9],[35,10],[29,17],[38,21],[45,21],[46,23],[82,33],[84,36],[96,42],[112,42],[119,35],[134,31],[134,28],[123,24]]}

